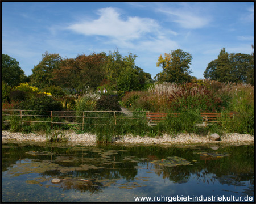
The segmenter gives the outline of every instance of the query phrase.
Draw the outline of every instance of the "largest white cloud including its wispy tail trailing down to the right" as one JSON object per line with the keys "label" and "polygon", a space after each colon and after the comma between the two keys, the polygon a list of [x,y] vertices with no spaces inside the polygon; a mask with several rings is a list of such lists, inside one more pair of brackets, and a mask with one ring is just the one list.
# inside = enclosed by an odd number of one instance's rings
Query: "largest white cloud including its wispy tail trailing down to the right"
{"label": "largest white cloud including its wispy tail trailing down to the right", "polygon": [[118,48],[129,50],[158,53],[177,47],[177,43],[170,40],[170,36],[177,36],[178,33],[160,27],[154,19],[128,16],[125,20],[120,12],[112,7],[101,8],[98,14],[98,19],[82,20],[66,29],[93,36],[102,44],[114,44]]}

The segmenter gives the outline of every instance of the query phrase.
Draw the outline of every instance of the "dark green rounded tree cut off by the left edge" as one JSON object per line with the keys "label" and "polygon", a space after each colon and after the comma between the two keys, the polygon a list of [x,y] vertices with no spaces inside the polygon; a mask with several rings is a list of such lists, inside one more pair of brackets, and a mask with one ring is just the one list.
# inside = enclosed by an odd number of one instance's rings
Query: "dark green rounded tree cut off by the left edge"
{"label": "dark green rounded tree cut off by the left edge", "polygon": [[26,75],[19,67],[19,62],[7,54],[2,54],[2,82],[14,87],[22,83],[25,78]]}

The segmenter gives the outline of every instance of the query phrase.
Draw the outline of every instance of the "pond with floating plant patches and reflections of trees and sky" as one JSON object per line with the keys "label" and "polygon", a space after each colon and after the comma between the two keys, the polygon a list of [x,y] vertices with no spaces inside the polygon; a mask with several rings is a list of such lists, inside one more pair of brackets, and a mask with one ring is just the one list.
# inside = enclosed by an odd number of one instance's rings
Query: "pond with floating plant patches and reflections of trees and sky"
{"label": "pond with floating plant patches and reflections of trees and sky", "polygon": [[254,202],[254,145],[2,142],[2,202],[170,202],[188,196]]}

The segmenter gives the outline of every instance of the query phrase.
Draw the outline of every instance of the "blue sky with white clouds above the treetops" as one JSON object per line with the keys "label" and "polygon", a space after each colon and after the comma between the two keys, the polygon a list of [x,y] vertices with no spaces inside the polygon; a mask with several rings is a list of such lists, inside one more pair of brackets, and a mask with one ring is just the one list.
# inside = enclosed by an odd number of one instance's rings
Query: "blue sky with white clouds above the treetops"
{"label": "blue sky with white clouds above the treetops", "polygon": [[2,2],[2,54],[26,75],[46,51],[61,57],[114,52],[136,54],[154,77],[160,54],[192,54],[192,76],[203,79],[221,48],[250,54],[254,2]]}

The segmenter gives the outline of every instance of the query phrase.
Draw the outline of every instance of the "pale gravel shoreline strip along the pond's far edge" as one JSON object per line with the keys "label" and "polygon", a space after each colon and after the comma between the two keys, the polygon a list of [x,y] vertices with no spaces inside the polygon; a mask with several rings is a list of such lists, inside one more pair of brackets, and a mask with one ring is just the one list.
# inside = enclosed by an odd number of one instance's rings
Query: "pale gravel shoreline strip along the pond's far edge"
{"label": "pale gravel shoreline strip along the pond's far edge", "polygon": [[[73,145],[96,145],[96,135],[84,133],[76,134],[74,131],[65,131],[65,138],[69,144]],[[10,131],[2,131],[2,141],[33,141],[46,142],[45,133],[12,133]],[[191,143],[254,143],[254,135],[229,133],[221,137],[221,141],[210,141],[209,136],[200,136],[196,134],[178,134],[175,137],[164,134],[162,137],[134,137],[133,135],[125,135],[115,137],[113,144],[191,144]]]}

